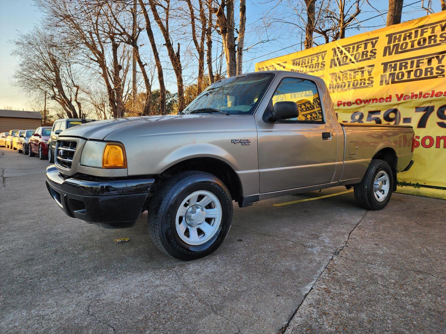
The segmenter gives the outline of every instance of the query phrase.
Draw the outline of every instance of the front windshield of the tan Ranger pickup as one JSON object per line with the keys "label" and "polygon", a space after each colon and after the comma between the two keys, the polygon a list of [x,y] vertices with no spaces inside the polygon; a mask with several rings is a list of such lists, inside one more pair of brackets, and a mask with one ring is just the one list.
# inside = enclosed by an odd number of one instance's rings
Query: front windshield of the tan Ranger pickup
{"label": "front windshield of the tan Ranger pickup", "polygon": [[183,114],[250,115],[272,78],[271,73],[253,73],[217,81],[198,95]]}

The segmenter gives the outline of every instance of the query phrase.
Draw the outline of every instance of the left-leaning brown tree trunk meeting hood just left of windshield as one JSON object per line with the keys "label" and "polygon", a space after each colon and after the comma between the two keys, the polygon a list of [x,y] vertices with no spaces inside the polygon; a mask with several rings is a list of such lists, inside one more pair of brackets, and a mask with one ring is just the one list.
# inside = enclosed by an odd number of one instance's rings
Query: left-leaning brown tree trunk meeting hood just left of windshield
{"label": "left-leaning brown tree trunk meeting hood just left of windshield", "polygon": [[[169,30],[167,26],[168,19],[166,18],[166,26],[163,23],[163,20],[161,20],[160,16],[158,15],[157,8],[155,5],[154,0],[149,0],[150,9],[152,9],[153,17],[155,18],[155,21],[158,24],[158,27],[161,30],[161,33],[163,34],[164,41],[165,41],[165,47],[167,49],[167,53],[169,55],[170,62],[173,66],[173,72],[175,73],[175,77],[177,78],[177,90],[178,90],[178,111],[182,111],[186,106],[184,102],[184,85],[183,85],[183,73],[182,73],[182,66],[181,66],[181,59],[180,59],[180,43],[178,43],[178,51],[175,53],[175,50],[173,49],[172,42],[170,41],[170,35]],[[169,5],[166,10],[166,16],[169,16]]]}

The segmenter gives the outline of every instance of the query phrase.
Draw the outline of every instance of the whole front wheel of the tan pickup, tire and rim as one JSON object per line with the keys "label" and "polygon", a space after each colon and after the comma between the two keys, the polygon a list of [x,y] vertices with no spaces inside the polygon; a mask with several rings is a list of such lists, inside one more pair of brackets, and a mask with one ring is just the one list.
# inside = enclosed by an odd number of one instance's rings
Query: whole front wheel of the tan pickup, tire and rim
{"label": "whole front wheel of the tan pickup, tire and rim", "polygon": [[232,221],[231,195],[214,175],[186,171],[174,175],[157,191],[147,220],[149,234],[163,253],[195,260],[214,252],[226,238]]}

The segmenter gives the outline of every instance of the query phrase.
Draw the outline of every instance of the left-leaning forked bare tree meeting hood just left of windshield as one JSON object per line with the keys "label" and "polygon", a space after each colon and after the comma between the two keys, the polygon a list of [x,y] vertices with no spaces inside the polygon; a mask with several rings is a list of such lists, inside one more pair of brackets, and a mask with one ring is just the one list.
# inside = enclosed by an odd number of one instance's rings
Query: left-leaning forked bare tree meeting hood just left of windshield
{"label": "left-leaning forked bare tree meeting hood just left of windshield", "polygon": [[[178,111],[182,111],[186,106],[184,102],[184,84],[183,84],[183,72],[180,57],[180,43],[177,43],[177,51],[173,49],[173,42],[169,32],[169,15],[170,15],[170,0],[163,0],[162,3],[155,2],[155,0],[149,0],[150,9],[152,10],[153,17],[161,30],[164,37],[165,47],[167,54],[169,55],[170,62],[173,66],[173,72],[177,79],[178,90]],[[158,8],[162,9],[163,19],[158,12]]]}

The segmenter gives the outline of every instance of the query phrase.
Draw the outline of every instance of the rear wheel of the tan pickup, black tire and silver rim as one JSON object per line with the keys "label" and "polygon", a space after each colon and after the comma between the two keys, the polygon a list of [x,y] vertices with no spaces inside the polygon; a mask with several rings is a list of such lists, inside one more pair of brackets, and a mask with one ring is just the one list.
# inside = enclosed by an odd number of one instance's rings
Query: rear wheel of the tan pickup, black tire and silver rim
{"label": "rear wheel of the tan pickup, black tire and silver rim", "polygon": [[381,210],[392,197],[393,182],[389,164],[384,160],[372,160],[361,182],[353,186],[355,199],[365,209]]}

